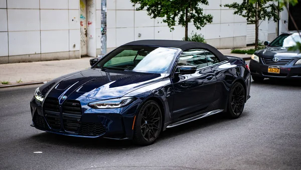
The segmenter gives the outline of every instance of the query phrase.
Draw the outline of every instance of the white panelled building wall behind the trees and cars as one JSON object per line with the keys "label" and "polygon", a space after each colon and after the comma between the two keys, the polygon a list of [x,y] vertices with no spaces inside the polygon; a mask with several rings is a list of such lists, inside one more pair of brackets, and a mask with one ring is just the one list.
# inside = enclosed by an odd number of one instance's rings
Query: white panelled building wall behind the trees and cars
{"label": "white panelled building wall behind the trees and cars", "polygon": [[[254,43],[254,26],[223,7],[241,1],[210,0],[201,7],[213,22],[201,30],[190,23],[189,33],[201,33],[220,49]],[[182,40],[185,35],[181,26],[171,31],[162,18],[135,11],[130,0],[0,0],[0,16],[0,64],[97,57],[130,41]],[[287,12],[280,16],[279,24],[260,24],[260,41],[287,31]]]}

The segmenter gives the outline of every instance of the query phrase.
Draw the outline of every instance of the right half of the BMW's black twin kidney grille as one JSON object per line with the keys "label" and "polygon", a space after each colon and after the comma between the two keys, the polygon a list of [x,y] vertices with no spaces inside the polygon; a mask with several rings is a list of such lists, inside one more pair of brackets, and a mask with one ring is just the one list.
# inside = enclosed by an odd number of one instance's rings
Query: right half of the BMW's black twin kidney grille
{"label": "right half of the BMW's black twin kidney grille", "polygon": [[77,100],[66,100],[63,104],[64,129],[76,133],[80,127],[82,112],[81,104]]}

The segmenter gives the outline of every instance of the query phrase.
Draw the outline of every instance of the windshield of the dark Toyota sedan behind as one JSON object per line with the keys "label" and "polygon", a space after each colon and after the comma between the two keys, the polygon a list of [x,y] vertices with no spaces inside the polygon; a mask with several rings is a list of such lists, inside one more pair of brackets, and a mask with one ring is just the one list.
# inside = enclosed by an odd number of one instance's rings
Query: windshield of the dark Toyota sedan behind
{"label": "windshield of the dark Toyota sedan behind", "polygon": [[301,39],[298,34],[281,34],[269,45],[270,47],[292,47],[296,45],[295,42],[300,42]]}

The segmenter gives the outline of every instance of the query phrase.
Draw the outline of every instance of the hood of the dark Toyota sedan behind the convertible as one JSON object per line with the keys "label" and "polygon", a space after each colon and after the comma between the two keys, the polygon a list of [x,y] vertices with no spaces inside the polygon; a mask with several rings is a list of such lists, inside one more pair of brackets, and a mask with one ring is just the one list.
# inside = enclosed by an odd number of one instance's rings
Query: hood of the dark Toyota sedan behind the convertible
{"label": "hood of the dark Toyota sedan behind the convertible", "polygon": [[301,57],[299,51],[288,51],[286,47],[266,47],[263,50],[255,52],[255,55],[259,57],[271,58],[277,57]]}

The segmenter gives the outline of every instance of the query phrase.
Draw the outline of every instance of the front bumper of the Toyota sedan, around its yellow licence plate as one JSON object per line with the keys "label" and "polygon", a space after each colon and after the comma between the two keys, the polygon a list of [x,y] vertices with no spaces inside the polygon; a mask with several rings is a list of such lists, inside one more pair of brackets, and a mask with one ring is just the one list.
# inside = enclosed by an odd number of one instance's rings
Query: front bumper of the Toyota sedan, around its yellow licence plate
{"label": "front bumper of the Toyota sedan, around its yellow licence plate", "polygon": [[[295,61],[287,66],[272,66],[265,65],[261,62],[257,63],[254,60],[250,61],[250,71],[252,76],[264,78],[283,78],[283,79],[301,79],[301,65],[294,65]],[[280,74],[268,73],[268,67],[279,67]]]}

